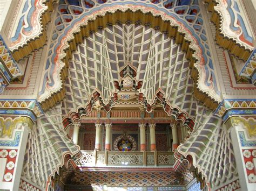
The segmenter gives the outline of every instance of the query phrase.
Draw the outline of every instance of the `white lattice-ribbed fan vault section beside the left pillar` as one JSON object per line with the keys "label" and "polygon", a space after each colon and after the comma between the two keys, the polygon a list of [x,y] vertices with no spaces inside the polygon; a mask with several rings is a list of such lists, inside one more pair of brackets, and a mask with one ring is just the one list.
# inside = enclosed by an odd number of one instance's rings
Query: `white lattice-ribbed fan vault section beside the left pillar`
{"label": "white lattice-ribbed fan vault section beside the left pillar", "polygon": [[48,110],[37,119],[29,135],[24,157],[22,178],[45,188],[50,175],[64,163],[64,155],[78,153],[63,129],[60,105]]}

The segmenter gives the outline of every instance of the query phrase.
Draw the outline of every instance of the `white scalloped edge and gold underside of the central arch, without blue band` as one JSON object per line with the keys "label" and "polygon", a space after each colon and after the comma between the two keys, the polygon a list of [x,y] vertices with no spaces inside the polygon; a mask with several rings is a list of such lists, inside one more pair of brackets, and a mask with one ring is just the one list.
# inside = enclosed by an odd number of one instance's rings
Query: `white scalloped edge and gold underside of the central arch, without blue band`
{"label": "white scalloped edge and gold underside of the central arch, without blue band", "polygon": [[[57,102],[62,101],[65,96],[63,88],[64,79],[68,76],[69,59],[72,58],[72,52],[76,50],[77,44],[82,43],[83,38],[89,36],[90,32],[95,32],[98,27],[105,28],[107,24],[116,24],[117,22],[137,23],[142,25],[151,25],[152,28],[159,27],[161,32],[168,32],[169,38],[176,39],[176,44],[181,44],[182,50],[186,52],[186,58],[190,60],[191,77],[194,80],[193,93],[197,100],[202,101],[207,107],[215,109],[220,102],[220,96],[215,92],[213,85],[210,87],[204,84],[207,79],[204,68],[203,50],[201,49],[196,34],[188,26],[181,23],[166,14],[154,8],[142,5],[115,5],[103,8],[85,16],[66,31],[60,44],[56,48],[54,58],[56,71],[53,79],[58,80],[58,87],[49,87],[48,93],[39,96],[39,102],[42,108],[47,110]],[[47,84],[46,84],[47,85]]]}

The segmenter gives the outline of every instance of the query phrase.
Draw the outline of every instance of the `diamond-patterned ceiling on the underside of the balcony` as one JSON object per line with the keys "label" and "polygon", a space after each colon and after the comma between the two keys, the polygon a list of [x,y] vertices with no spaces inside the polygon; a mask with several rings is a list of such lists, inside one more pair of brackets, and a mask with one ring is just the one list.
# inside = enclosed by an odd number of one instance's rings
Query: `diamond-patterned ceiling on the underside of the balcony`
{"label": "diamond-patterned ceiling on the underside of the balcony", "polygon": [[180,164],[176,171],[169,172],[122,172],[122,171],[81,171],[68,165],[61,174],[64,185],[79,186],[169,186],[187,185],[193,174],[188,162]]}

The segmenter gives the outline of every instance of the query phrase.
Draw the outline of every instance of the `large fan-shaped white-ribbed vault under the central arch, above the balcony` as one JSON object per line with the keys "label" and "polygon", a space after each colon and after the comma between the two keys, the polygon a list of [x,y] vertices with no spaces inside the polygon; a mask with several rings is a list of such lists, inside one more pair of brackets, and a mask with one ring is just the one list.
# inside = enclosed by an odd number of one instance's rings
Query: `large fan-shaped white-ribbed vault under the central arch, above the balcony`
{"label": "large fan-shaped white-ribbed vault under the central arch, above the balcony", "polygon": [[117,91],[113,82],[120,80],[120,69],[126,63],[137,69],[136,80],[143,81],[140,92],[147,100],[154,99],[161,88],[173,107],[195,115],[193,82],[185,53],[158,30],[133,24],[108,26],[84,39],[69,63],[64,115],[84,107],[96,88],[107,102]]}

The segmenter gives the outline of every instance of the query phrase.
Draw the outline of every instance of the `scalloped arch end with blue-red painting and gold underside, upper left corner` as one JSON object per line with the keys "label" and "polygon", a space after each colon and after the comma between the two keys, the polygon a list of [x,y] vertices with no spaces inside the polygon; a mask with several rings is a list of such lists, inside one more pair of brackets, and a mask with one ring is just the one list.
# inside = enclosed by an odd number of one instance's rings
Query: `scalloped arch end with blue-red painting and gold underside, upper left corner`
{"label": "scalloped arch end with blue-red painting and gold underside, upper left corner", "polygon": [[43,47],[46,43],[46,26],[51,20],[53,3],[57,0],[23,1],[24,6],[12,28],[8,39],[8,47],[14,59],[21,60],[32,51]]}

